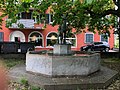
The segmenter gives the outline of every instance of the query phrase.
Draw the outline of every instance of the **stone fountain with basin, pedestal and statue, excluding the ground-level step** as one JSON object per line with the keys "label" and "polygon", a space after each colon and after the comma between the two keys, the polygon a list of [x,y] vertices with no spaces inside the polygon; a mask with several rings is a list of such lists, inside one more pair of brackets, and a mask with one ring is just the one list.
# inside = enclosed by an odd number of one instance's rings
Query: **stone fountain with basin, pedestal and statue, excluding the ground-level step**
{"label": "stone fountain with basin, pedestal and statue, excluding the ground-level step", "polygon": [[100,70],[100,55],[97,53],[74,53],[71,45],[66,44],[66,15],[59,26],[59,40],[54,45],[53,53],[26,54],[26,70],[47,76],[89,75]]}

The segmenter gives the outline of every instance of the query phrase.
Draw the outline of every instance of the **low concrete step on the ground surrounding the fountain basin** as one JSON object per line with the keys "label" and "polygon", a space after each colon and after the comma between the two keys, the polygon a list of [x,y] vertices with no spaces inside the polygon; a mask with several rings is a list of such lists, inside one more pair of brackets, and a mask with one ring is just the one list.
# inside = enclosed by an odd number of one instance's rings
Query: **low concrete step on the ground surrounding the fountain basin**
{"label": "low concrete step on the ground surrounding the fountain basin", "polygon": [[25,65],[17,66],[8,72],[11,80],[20,82],[24,77],[29,84],[39,86],[45,90],[87,90],[105,89],[117,77],[118,73],[106,67],[101,67],[99,72],[86,77],[45,77],[27,73]]}

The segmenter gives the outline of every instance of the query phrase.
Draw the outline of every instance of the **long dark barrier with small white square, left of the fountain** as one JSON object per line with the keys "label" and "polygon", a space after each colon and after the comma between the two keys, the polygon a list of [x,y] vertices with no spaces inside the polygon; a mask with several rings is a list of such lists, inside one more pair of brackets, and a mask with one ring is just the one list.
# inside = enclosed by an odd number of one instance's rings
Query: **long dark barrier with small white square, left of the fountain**
{"label": "long dark barrier with small white square, left of the fountain", "polygon": [[0,42],[0,53],[26,53],[34,47],[32,42]]}

